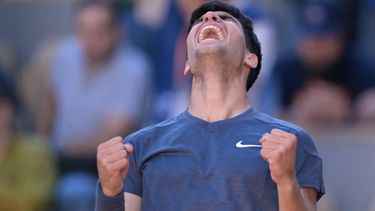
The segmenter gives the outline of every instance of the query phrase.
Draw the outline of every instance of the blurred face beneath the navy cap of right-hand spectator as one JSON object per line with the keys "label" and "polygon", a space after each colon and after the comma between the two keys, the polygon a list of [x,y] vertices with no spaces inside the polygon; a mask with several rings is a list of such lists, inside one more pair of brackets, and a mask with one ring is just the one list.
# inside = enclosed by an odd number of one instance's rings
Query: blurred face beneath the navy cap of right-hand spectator
{"label": "blurred face beneath the navy cap of right-hand spectator", "polygon": [[298,53],[305,65],[322,70],[340,59],[343,48],[343,39],[337,34],[306,36],[299,42]]}

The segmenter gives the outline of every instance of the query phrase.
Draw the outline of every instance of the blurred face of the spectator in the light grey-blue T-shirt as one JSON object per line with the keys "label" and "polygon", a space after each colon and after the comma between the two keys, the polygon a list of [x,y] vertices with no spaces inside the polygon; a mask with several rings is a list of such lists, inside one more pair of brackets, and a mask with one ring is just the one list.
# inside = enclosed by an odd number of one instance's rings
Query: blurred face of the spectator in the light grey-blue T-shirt
{"label": "blurred face of the spectator in the light grey-blue T-shirt", "polygon": [[77,16],[77,31],[90,63],[107,59],[118,41],[118,31],[111,12],[91,5],[82,8]]}

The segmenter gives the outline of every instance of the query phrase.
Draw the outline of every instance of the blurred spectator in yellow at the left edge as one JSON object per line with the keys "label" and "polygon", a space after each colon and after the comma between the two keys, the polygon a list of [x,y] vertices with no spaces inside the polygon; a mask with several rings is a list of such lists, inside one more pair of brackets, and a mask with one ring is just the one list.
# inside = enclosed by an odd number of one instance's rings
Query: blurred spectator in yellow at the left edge
{"label": "blurred spectator in yellow at the left edge", "polygon": [[16,104],[0,70],[0,210],[42,210],[51,199],[56,168],[45,142],[16,130]]}

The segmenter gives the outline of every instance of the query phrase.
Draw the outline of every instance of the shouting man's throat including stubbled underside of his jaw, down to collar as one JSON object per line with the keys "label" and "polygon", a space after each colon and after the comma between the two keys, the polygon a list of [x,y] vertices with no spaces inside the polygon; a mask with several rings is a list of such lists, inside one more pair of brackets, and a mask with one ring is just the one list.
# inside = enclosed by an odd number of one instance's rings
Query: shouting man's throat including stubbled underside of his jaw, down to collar
{"label": "shouting man's throat including stubbled underside of his jaw, down to collar", "polygon": [[[226,51],[225,51],[226,52]],[[248,69],[223,52],[190,57],[193,74],[189,112],[208,122],[235,117],[248,108]]]}

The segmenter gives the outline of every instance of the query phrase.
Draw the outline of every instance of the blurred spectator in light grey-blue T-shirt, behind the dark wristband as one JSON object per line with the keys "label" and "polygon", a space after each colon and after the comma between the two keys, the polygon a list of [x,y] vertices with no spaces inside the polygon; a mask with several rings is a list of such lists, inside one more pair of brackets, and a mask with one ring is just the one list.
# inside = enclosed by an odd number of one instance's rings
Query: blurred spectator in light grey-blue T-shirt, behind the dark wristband
{"label": "blurred spectator in light grey-blue T-shirt, behind the dark wristband", "polygon": [[142,121],[149,65],[136,48],[120,44],[115,8],[81,1],[77,37],[58,47],[39,130],[57,154],[58,210],[93,210],[95,152],[103,141],[126,135]]}

